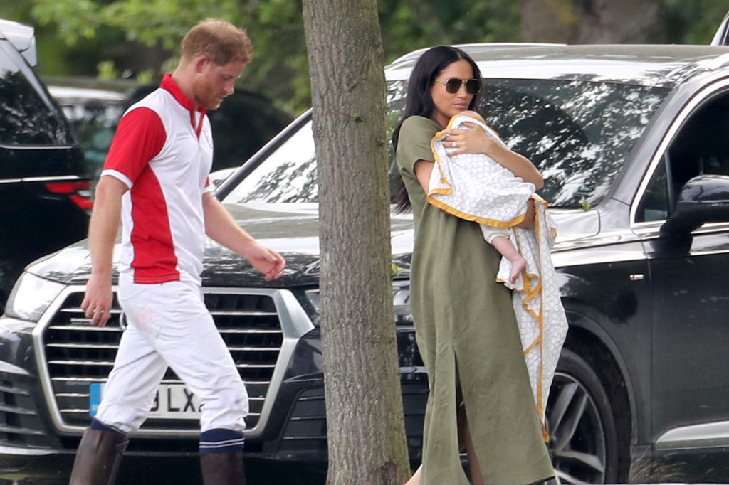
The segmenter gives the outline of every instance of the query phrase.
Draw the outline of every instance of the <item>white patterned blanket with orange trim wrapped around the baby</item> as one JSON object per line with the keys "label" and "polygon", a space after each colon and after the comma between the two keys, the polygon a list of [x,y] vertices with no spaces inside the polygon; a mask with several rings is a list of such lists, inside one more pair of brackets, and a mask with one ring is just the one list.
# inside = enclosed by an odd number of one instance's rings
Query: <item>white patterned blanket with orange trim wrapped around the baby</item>
{"label": "white patterned blanket with orange trim wrapped around the baby", "polygon": [[[472,117],[454,117],[448,127],[458,128],[463,122],[475,123],[503,145],[493,130]],[[557,235],[555,224],[547,213],[547,202],[534,194],[533,184],[524,182],[483,154],[451,157],[452,150],[443,146],[444,137],[442,132],[436,133],[431,143],[436,167],[430,178],[428,201],[469,221],[510,228],[512,243],[526,259],[526,270],[514,285],[508,283],[511,265],[506,258],[502,258],[496,279],[512,288],[512,304],[529,381],[544,423],[550,385],[567,334],[567,320],[550,257]],[[516,225],[526,217],[529,199],[534,200],[537,209],[534,228],[521,229]]]}

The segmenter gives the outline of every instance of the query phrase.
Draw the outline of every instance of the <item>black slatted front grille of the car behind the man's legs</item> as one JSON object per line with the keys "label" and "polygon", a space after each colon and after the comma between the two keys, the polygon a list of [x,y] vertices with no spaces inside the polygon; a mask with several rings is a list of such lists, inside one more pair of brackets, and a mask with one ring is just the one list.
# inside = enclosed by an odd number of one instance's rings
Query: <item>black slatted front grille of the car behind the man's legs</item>
{"label": "black slatted front grille of the car behind the man's legs", "polygon": [[[210,291],[203,289],[206,306],[225,340],[235,366],[246,383],[250,414],[249,430],[259,425],[284,333],[270,294]],[[106,382],[114,365],[122,330],[120,307],[114,298],[112,318],[106,326],[91,326],[80,308],[82,291],[67,293],[45,326],[43,352],[50,380],[50,393],[62,426],[85,427],[90,423],[89,385]],[[181,383],[171,369],[164,383]],[[197,419],[150,417],[144,430],[197,431]]]}

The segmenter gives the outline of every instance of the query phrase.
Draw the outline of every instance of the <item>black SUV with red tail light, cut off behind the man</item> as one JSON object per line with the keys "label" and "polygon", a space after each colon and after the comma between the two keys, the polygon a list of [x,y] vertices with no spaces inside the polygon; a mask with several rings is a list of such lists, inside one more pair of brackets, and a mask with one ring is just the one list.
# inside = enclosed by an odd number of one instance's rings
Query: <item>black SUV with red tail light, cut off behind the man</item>
{"label": "black SUV with red tail light, cut off behind the man", "polygon": [[30,261],[85,237],[84,159],[36,77],[33,28],[0,20],[0,309]]}

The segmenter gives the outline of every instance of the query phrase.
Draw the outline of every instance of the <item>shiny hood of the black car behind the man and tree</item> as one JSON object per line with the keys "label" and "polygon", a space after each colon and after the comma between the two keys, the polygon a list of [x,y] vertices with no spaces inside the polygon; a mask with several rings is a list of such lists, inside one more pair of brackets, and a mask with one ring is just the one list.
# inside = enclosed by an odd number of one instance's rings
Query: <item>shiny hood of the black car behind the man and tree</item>
{"label": "shiny hood of the black car behind the man and tree", "polygon": [[[290,287],[319,284],[319,215],[316,204],[231,204],[226,208],[238,224],[263,245],[286,259],[284,275],[265,281],[245,259],[207,238],[203,285]],[[410,273],[413,249],[411,216],[392,216],[393,272]],[[120,245],[114,248],[115,253]],[[114,258],[116,259],[116,258]],[[66,284],[86,283],[91,272],[87,240],[63,248],[28,266],[26,271]],[[117,272],[114,267],[114,280]]]}

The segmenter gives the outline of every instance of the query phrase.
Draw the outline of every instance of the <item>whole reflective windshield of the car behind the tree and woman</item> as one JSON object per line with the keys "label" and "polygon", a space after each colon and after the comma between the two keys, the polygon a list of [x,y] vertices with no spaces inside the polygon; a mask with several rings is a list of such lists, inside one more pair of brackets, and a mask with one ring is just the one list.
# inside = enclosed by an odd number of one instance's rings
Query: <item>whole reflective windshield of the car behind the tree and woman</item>
{"label": "whole reflective windshield of the car behind the tree and woman", "polygon": [[[597,205],[665,98],[666,88],[607,82],[485,79],[479,111],[545,178],[553,207]],[[406,82],[391,82],[387,124],[405,107]],[[390,163],[391,163],[390,151]],[[311,122],[252,170],[225,202],[316,202]]]}

